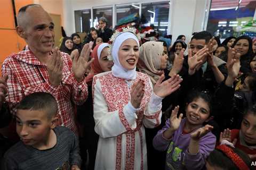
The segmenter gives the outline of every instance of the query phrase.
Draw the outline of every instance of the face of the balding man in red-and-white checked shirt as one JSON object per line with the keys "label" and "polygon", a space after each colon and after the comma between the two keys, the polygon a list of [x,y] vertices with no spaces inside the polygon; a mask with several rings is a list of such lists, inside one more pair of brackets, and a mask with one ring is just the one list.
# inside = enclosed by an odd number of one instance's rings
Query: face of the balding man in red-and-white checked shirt
{"label": "face of the balding man in red-and-white checked shirt", "polygon": [[[27,8],[26,24],[19,26],[19,35],[26,40],[34,53],[46,54],[51,52],[54,45],[54,24],[50,15],[42,7]],[[19,30],[17,28],[17,30]]]}

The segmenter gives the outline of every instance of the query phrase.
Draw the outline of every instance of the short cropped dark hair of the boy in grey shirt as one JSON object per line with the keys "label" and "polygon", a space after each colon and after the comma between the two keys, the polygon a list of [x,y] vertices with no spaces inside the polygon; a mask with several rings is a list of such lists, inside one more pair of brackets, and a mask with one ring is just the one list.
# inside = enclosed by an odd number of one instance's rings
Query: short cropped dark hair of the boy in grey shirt
{"label": "short cropped dark hair of the boy in grey shirt", "polygon": [[17,106],[17,110],[46,111],[47,118],[51,119],[58,112],[55,98],[46,92],[35,92],[25,96]]}

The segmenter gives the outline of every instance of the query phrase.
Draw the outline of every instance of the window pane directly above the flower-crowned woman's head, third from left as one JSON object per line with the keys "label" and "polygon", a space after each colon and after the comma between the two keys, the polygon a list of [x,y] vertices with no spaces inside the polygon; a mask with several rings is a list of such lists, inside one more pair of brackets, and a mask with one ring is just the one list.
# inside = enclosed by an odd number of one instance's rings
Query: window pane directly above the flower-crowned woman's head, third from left
{"label": "window pane directly above the flower-crowned woman's head, third from left", "polygon": [[[139,16],[140,5],[139,4],[131,4],[131,5],[116,5],[116,25],[120,25],[122,21],[120,19],[124,19],[126,16],[138,14]],[[127,22],[129,22],[129,18],[127,18]]]}

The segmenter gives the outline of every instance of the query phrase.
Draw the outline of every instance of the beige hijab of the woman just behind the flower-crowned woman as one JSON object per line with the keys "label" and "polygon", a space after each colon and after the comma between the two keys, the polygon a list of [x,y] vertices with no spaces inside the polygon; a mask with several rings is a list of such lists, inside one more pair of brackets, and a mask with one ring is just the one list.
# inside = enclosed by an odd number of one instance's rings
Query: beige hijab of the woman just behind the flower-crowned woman
{"label": "beige hijab of the woman just behind the flower-crowned woman", "polygon": [[140,46],[139,71],[148,74],[153,86],[163,74],[163,71],[161,71],[163,51],[163,42],[148,41]]}

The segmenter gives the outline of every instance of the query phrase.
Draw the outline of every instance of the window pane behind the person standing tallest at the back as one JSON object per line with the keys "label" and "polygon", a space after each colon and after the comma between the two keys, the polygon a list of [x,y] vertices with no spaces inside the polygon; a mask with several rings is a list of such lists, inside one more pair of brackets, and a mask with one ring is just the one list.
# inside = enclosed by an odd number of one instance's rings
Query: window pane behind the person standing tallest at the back
{"label": "window pane behind the person standing tallest at the back", "polygon": [[93,27],[96,28],[98,20],[102,16],[108,20],[107,27],[113,29],[113,7],[93,8]]}

